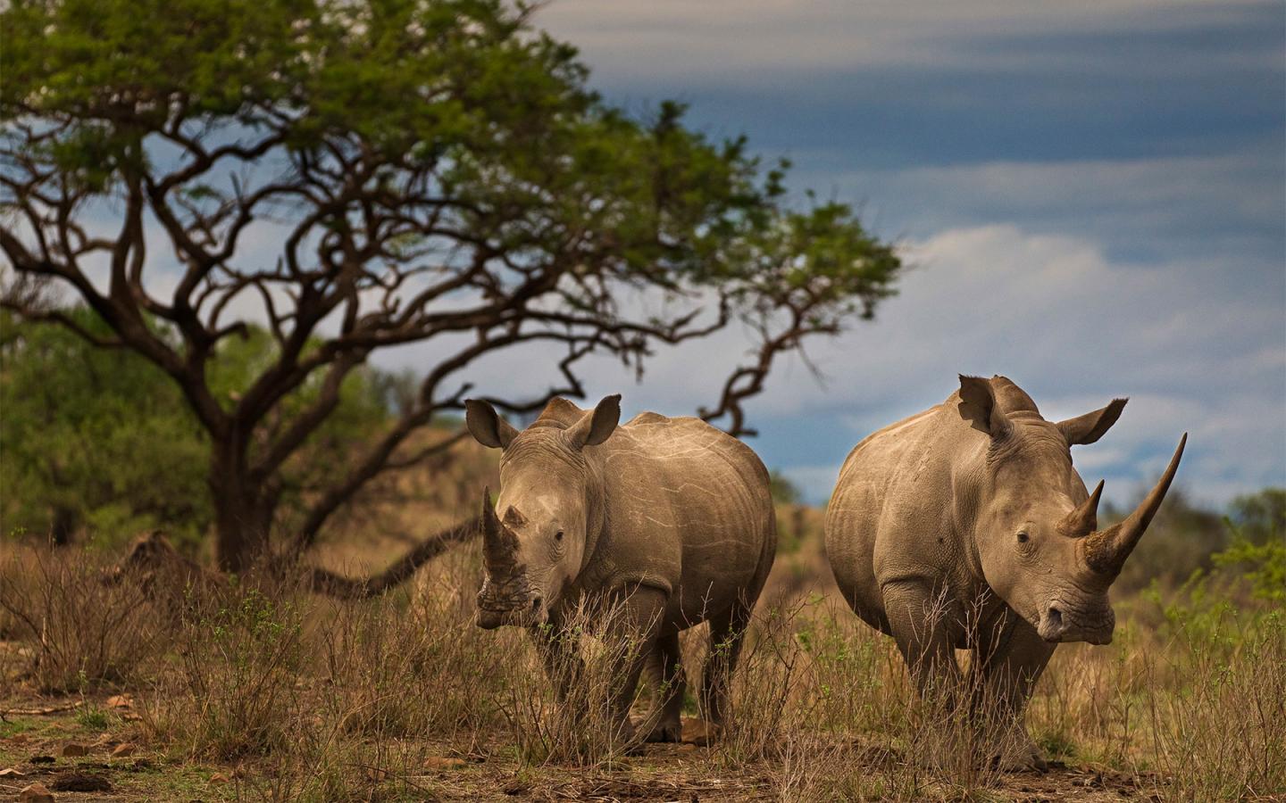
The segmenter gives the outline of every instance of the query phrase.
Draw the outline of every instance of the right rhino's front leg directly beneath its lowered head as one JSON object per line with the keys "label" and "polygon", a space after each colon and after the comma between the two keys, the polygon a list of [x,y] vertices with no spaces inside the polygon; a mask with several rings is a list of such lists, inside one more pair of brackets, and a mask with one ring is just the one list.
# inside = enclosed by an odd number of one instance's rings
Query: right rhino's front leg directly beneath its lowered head
{"label": "right rhino's front leg directly beneath its lowered head", "polygon": [[1048,767],[1028,734],[1022,709],[1056,646],[1011,613],[1006,627],[993,637],[983,633],[974,650],[971,663],[981,673],[981,682],[974,685],[974,716],[980,725],[999,730],[995,758],[1004,770]]}

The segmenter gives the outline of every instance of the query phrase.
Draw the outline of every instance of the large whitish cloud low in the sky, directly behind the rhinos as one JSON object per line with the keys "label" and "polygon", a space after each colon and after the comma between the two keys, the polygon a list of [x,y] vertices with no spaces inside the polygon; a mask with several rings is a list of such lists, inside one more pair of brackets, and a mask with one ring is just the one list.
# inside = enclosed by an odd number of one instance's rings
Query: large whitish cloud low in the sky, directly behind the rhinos
{"label": "large whitish cloud low in the sky, directly behind the rhinos", "polygon": [[[1201,501],[1286,483],[1286,319],[1274,296],[1175,278],[1200,266],[1114,261],[1091,239],[1012,225],[949,229],[908,244],[919,267],[874,322],[813,343],[750,403],[752,441],[813,501],[871,432],[939,403],[958,373],[1004,374],[1051,420],[1130,402],[1100,443],[1076,447],[1085,479],[1128,502],[1190,432],[1181,483]],[[692,414],[748,346],[743,333],[665,349],[642,384],[610,360],[585,366],[588,396],[624,392],[626,415]],[[436,349],[437,347],[435,347]],[[403,357],[430,347],[405,349]],[[481,389],[539,389],[556,352],[504,352],[469,371]],[[382,357],[382,360],[387,358]],[[414,358],[413,358],[414,361]]]}

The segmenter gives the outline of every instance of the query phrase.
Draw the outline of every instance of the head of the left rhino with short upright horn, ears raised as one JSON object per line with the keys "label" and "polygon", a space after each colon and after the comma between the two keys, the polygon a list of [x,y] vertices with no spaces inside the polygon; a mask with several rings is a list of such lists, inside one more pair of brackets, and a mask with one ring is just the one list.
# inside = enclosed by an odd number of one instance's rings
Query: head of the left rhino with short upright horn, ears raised
{"label": "head of the left rhino with short upright horn, ears raised", "polygon": [[621,397],[592,411],[554,400],[518,432],[484,401],[466,402],[466,424],[478,443],[502,450],[500,495],[482,493],[480,627],[541,624],[580,574],[602,506],[584,448],[606,441],[621,416]]}

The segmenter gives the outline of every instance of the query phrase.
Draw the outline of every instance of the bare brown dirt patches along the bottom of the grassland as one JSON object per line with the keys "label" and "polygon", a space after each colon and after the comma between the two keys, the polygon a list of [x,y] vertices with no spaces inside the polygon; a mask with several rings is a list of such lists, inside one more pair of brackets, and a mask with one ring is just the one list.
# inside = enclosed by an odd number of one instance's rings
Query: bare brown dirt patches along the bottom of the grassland
{"label": "bare brown dirt patches along the bottom of the grassland", "polygon": [[[39,699],[6,695],[0,718],[0,795],[40,782],[55,800],[261,800],[274,798],[273,767],[264,762],[210,764],[167,755],[140,741],[139,714],[129,695]],[[90,713],[91,712],[91,713]],[[103,713],[108,712],[108,713]],[[123,746],[122,746],[123,745]],[[77,755],[84,748],[82,755]],[[696,744],[646,745],[607,768],[522,768],[502,741],[435,745],[415,771],[352,767],[369,781],[368,800],[682,800],[781,799],[783,767],[729,771]],[[905,776],[903,757],[872,745],[828,745],[827,766],[842,763],[859,781],[844,797],[880,798],[883,777]],[[804,757],[806,763],[806,757]],[[396,762],[392,762],[396,763]],[[391,764],[392,766],[392,764]],[[21,773],[21,775],[18,775]],[[1010,773],[986,793],[990,800],[1160,800],[1147,773],[1130,776],[1056,762],[1048,772]],[[926,789],[926,797],[950,790]]]}

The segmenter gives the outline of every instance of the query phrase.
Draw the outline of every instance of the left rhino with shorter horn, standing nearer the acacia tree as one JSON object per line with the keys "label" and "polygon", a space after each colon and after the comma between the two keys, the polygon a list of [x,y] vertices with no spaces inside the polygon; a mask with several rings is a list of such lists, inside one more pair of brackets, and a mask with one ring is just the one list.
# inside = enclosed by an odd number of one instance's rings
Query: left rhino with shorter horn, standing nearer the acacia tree
{"label": "left rhino with shorter horn, standing nearer the acacia tree", "polygon": [[549,402],[518,432],[480,401],[469,432],[502,448],[500,495],[482,505],[478,624],[531,627],[556,681],[574,663],[562,626],[586,597],[624,606],[644,632],[621,667],[619,735],[634,737],[629,704],[643,666],[655,667],[660,710],[644,737],[678,741],[683,707],[679,632],[710,622],[701,702],[724,718],[727,677],[777,552],[768,472],[741,441],[694,418],[643,412],[622,427],[620,396],[594,410]]}

